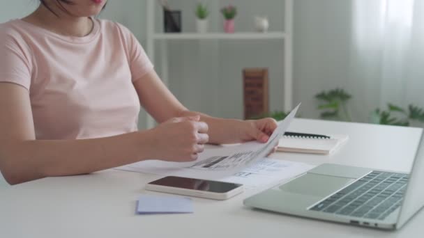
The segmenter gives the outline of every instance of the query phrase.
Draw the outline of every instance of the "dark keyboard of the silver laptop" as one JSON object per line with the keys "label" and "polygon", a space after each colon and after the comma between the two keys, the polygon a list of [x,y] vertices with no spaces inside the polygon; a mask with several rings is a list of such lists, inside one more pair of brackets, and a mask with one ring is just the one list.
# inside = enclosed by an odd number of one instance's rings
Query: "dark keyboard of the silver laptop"
{"label": "dark keyboard of the silver laptop", "polygon": [[402,173],[372,171],[310,210],[384,220],[401,205],[408,177]]}

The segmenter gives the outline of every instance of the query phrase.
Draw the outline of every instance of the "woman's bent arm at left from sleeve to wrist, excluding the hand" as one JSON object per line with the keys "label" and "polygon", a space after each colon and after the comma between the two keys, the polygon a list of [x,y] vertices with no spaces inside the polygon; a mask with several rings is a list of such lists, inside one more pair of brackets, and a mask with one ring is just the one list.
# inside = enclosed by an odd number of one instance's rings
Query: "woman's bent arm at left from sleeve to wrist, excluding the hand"
{"label": "woman's bent arm at left from sleeve to wrist, excluding the hand", "polygon": [[28,90],[0,83],[0,169],[10,184],[41,177],[91,173],[149,156],[146,135],[37,141]]}

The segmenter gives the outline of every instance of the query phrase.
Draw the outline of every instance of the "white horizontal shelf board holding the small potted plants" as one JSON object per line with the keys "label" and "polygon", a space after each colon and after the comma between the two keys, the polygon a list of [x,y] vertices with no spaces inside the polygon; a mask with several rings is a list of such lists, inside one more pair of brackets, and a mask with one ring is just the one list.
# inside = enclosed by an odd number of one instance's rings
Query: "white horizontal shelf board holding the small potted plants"
{"label": "white horizontal shelf board holding the small potted plants", "polygon": [[271,40],[284,39],[284,32],[240,32],[240,33],[156,33],[154,39],[160,40]]}

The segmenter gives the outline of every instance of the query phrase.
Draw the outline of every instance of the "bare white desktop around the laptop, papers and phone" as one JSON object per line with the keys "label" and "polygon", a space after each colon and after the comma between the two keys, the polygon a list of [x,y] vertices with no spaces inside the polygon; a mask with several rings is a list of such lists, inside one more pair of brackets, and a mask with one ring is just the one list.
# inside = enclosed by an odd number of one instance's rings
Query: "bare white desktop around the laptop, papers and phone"
{"label": "bare white desktop around the laptop, papers and phone", "polygon": [[[296,119],[291,130],[349,134],[333,156],[278,153],[311,164],[331,162],[409,171],[421,129]],[[9,187],[0,180],[0,237],[417,237],[418,213],[398,232],[301,219],[195,198],[194,214],[135,215],[144,184],[158,178],[119,170],[54,177]],[[282,201],[283,203],[284,201]]]}

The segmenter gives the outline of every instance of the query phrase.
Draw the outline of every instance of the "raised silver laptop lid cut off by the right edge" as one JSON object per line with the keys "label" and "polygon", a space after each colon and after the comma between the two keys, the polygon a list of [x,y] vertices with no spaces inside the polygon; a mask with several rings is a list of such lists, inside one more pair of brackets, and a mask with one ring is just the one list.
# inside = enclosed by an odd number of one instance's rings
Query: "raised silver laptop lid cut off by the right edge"
{"label": "raised silver laptop lid cut off by the right edge", "polygon": [[[402,158],[399,158],[402,159]],[[409,174],[407,191],[404,193],[402,206],[398,218],[397,228],[401,228],[411,216],[414,216],[424,206],[424,136],[421,131],[421,140],[416,150],[412,170]]]}

